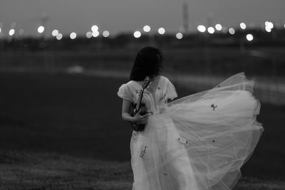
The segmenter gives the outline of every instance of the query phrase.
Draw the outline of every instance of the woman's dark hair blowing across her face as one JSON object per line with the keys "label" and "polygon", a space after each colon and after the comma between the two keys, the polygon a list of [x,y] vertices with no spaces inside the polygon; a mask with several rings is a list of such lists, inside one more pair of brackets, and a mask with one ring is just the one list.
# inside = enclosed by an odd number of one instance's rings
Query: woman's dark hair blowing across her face
{"label": "woman's dark hair blowing across her face", "polygon": [[160,74],[162,62],[162,52],[158,48],[151,46],[142,48],[135,58],[129,80],[140,81],[146,76],[154,78]]}

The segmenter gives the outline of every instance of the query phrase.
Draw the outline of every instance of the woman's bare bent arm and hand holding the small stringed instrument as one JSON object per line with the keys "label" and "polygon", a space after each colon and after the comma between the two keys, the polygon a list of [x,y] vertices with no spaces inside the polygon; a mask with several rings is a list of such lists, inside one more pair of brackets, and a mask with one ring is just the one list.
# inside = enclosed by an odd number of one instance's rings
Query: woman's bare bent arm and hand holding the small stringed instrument
{"label": "woman's bare bent arm and hand holding the small stringed instrument", "polygon": [[145,115],[140,115],[140,111],[139,111],[134,117],[130,115],[131,104],[132,102],[123,99],[122,119],[128,122],[135,122],[138,124],[147,122],[147,113]]}

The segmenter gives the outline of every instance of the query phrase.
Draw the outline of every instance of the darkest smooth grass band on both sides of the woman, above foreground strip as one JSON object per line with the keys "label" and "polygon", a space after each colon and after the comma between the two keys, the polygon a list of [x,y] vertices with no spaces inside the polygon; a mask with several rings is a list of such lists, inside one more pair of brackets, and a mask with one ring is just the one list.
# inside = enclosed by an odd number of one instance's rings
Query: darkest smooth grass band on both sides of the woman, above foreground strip
{"label": "darkest smooth grass band on both sides of the woman, above foreground strip", "polygon": [[[131,128],[121,120],[122,100],[116,95],[125,82],[65,73],[1,73],[1,152],[129,162]],[[175,86],[179,97],[194,93]],[[258,120],[265,131],[242,167],[243,176],[284,179],[284,115],[285,107],[262,103]]]}

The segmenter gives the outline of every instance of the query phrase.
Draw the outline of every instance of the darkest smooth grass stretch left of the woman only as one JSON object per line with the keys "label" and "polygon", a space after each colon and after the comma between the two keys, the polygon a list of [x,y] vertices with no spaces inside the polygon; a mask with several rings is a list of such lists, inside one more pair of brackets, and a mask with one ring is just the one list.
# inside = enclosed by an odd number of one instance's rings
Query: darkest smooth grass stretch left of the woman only
{"label": "darkest smooth grass stretch left of the woman only", "polygon": [[120,119],[118,80],[1,73],[0,81],[1,148],[129,158],[131,130]]}

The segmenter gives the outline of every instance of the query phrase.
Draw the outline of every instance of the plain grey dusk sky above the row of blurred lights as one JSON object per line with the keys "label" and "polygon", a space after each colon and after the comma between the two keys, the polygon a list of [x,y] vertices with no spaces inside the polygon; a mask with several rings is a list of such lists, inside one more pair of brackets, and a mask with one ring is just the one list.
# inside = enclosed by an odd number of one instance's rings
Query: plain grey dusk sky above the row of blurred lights
{"label": "plain grey dusk sky above the row of blurred lights", "polygon": [[63,34],[85,34],[94,24],[99,31],[142,31],[146,24],[157,31],[177,32],[182,27],[182,4],[188,4],[190,30],[197,24],[240,22],[261,26],[264,21],[285,23],[285,0],[0,0],[0,35],[16,23],[24,35],[39,35],[43,15],[48,16],[46,33],[58,29]]}

